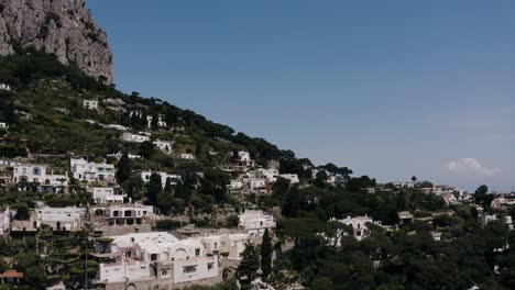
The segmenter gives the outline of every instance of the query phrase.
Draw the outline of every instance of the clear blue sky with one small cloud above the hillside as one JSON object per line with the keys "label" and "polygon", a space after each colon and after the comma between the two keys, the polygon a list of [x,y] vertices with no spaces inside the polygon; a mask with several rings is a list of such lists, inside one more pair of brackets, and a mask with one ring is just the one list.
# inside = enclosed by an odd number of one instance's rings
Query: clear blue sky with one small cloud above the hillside
{"label": "clear blue sky with one small cloud above the hillside", "polygon": [[515,183],[515,2],[87,0],[114,82],[380,181]]}

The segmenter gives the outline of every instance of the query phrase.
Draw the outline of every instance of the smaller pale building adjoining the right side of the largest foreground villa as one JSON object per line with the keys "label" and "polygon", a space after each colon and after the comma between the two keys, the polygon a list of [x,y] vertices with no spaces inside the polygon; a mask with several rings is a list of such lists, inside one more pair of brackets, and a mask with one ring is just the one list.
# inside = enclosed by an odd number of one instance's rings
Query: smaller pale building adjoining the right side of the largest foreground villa
{"label": "smaller pale building adjoining the right side of the largest foreground villa", "polygon": [[248,234],[208,235],[191,238],[199,239],[208,254],[227,256],[227,259],[230,260],[241,260],[240,254],[251,242]]}

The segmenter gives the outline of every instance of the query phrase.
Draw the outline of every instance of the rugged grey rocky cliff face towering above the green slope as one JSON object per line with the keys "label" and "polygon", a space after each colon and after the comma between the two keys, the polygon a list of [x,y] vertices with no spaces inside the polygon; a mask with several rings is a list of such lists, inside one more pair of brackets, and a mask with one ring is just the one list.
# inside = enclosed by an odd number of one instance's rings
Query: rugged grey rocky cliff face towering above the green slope
{"label": "rugged grey rocky cliff face towering above the green slope", "polygon": [[84,0],[0,0],[0,55],[13,44],[55,54],[86,74],[112,81],[112,54]]}

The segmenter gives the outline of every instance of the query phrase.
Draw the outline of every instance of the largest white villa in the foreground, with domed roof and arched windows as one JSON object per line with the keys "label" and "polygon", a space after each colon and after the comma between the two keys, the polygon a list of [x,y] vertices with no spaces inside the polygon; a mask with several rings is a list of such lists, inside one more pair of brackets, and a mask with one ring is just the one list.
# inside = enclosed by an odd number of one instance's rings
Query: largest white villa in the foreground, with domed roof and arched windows
{"label": "largest white villa in the foreground, with domed roof and arched windows", "polygon": [[[218,257],[208,255],[198,239],[178,239],[166,232],[112,236],[113,263],[99,265],[99,282],[106,289],[133,285],[132,289],[171,289],[172,285],[218,276]],[[146,282],[145,282],[146,281]],[[139,287],[143,283],[143,288]],[[161,288],[161,287],[163,288]],[[125,289],[125,288],[123,288]]]}

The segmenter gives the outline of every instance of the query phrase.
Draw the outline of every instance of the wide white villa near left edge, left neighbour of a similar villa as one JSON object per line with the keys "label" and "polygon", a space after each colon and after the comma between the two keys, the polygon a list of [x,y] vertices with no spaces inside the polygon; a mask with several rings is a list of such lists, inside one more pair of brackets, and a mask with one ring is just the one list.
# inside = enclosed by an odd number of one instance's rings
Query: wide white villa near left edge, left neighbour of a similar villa
{"label": "wide white villa near left edge, left neighbour of a similar villa", "polygon": [[68,175],[47,174],[47,168],[42,165],[15,165],[13,169],[15,183],[32,182],[37,185],[39,191],[61,192],[68,187]]}

